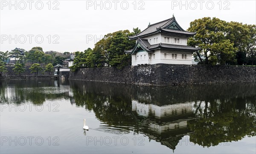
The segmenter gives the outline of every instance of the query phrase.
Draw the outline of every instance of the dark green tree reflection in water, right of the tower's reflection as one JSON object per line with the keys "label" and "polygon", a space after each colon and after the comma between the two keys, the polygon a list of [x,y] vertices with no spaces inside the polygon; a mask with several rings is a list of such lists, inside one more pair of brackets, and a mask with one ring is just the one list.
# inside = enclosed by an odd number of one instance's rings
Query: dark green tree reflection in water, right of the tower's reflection
{"label": "dark green tree reflection in water, right of the tower's reflection", "polygon": [[195,104],[197,119],[188,122],[190,141],[201,146],[241,140],[256,135],[256,98],[215,99]]}

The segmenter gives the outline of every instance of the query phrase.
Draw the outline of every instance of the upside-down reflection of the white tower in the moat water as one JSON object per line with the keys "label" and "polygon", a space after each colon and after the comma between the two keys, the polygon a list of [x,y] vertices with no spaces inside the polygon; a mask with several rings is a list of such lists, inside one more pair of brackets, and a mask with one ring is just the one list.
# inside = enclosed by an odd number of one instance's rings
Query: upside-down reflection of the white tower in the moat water
{"label": "upside-down reflection of the white tower in the moat water", "polygon": [[132,111],[138,118],[148,119],[143,121],[143,126],[147,127],[143,131],[150,139],[173,150],[179,140],[190,132],[187,121],[195,117],[190,102],[157,106],[133,100]]}

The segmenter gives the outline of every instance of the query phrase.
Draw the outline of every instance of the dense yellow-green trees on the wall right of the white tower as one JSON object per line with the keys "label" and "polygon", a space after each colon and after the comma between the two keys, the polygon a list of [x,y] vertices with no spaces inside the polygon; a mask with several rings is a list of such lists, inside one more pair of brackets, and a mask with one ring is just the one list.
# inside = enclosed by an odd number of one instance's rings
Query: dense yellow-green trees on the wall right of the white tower
{"label": "dense yellow-green trees on the wall right of the white tower", "polygon": [[188,31],[196,32],[188,45],[201,48],[194,53],[201,64],[255,64],[256,25],[204,17],[190,22]]}

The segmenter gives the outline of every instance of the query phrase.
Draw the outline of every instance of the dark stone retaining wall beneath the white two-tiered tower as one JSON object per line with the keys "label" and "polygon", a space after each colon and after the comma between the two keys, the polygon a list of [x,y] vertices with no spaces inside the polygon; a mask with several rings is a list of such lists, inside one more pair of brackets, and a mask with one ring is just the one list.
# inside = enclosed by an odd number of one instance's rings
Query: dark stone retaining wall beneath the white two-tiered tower
{"label": "dark stone retaining wall beneath the white two-tiered tower", "polygon": [[115,67],[81,68],[65,75],[66,79],[116,83],[176,85],[256,81],[256,67],[152,64]]}

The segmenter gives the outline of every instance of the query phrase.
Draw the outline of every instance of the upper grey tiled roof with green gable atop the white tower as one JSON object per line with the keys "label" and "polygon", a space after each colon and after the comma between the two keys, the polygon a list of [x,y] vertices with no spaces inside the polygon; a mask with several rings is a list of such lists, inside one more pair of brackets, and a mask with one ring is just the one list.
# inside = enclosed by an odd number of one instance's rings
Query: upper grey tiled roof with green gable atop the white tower
{"label": "upper grey tiled roof with green gable atop the white tower", "polygon": [[189,31],[183,30],[183,28],[180,27],[180,25],[175,20],[175,17],[173,16],[170,19],[163,20],[161,22],[157,22],[152,25],[148,25],[148,28],[146,28],[144,31],[140,32],[137,35],[129,36],[128,38],[129,39],[138,39],[143,36],[157,34],[161,31],[177,33],[177,34],[186,34],[189,36],[193,36],[196,34],[194,32],[189,32]]}

